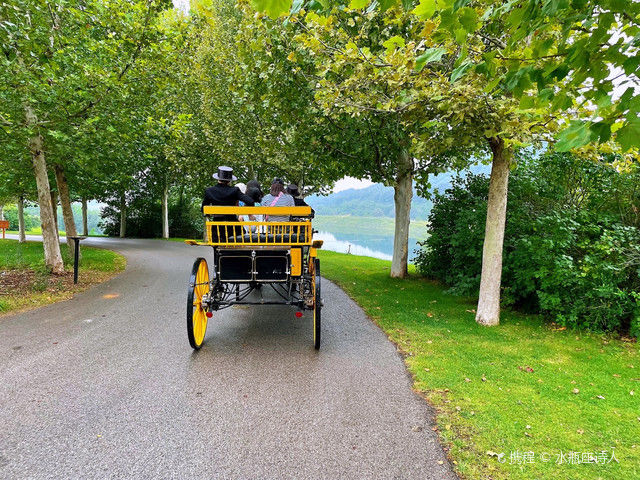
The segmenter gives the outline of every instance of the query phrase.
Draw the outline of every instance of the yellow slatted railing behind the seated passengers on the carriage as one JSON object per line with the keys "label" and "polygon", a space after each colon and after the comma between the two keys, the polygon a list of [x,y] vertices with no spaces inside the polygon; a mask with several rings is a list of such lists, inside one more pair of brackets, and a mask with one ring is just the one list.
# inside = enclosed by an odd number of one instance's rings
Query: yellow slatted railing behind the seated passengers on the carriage
{"label": "yellow slatted railing behind the seated passengers on the carriage", "polygon": [[[220,247],[311,245],[311,207],[204,207],[204,214],[238,215],[240,221],[207,218],[207,245]],[[262,215],[261,220],[247,220]],[[289,217],[290,221],[268,221],[268,217]],[[293,218],[292,218],[293,217]],[[197,242],[198,244],[203,244]]]}

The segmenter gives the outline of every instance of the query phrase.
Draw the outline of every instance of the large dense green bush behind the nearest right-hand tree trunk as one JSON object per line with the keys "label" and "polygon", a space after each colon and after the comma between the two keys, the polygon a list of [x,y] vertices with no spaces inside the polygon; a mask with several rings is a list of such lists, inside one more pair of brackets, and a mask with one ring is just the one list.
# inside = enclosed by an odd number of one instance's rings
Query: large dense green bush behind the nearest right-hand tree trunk
{"label": "large dense green bush behind the nearest right-hand tree trunk", "polygon": [[[509,186],[503,303],[556,322],[640,334],[638,172],[570,155],[520,159]],[[477,294],[488,178],[438,194],[418,270]]]}

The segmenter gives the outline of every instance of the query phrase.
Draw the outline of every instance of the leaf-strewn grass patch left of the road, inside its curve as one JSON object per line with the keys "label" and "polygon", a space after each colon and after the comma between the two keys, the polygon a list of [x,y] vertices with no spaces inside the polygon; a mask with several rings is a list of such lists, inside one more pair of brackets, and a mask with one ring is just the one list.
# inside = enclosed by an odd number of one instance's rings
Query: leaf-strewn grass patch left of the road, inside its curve
{"label": "leaf-strewn grass patch left of the road, inside its curve", "polygon": [[126,266],[115,252],[80,247],[78,284],[73,284],[73,260],[62,245],[64,275],[49,275],[41,242],[0,240],[0,316],[71,298],[75,293],[104,282]]}

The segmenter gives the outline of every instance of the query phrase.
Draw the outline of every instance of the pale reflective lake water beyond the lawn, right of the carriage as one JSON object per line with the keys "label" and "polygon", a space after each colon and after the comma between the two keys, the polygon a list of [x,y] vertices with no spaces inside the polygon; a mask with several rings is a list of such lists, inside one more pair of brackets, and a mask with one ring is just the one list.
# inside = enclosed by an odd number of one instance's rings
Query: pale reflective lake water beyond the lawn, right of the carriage
{"label": "pale reflective lake water beyond the lawn, right of the carriage", "polygon": [[[371,231],[353,233],[335,233],[319,231],[313,238],[324,240],[322,248],[333,252],[351,253],[366,257],[391,260],[393,255],[393,236],[378,235],[375,233],[375,225]],[[415,257],[418,248],[418,239],[409,238],[409,260]]]}

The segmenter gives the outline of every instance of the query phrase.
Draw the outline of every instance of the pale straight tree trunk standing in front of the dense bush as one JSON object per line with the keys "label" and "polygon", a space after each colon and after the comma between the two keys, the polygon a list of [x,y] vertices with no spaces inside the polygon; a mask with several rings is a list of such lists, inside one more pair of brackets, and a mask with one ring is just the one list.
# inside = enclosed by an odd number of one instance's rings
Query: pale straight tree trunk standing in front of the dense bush
{"label": "pale straight tree trunk standing in front of the dense bush", "polygon": [[507,189],[509,186],[510,152],[505,151],[500,137],[488,139],[493,163],[489,181],[487,223],[482,250],[482,276],[476,322],[480,325],[500,323],[500,282],[502,279],[502,246],[507,219]]}

